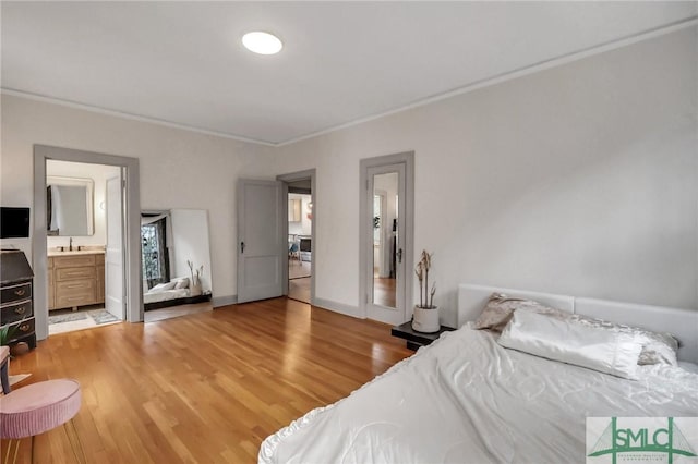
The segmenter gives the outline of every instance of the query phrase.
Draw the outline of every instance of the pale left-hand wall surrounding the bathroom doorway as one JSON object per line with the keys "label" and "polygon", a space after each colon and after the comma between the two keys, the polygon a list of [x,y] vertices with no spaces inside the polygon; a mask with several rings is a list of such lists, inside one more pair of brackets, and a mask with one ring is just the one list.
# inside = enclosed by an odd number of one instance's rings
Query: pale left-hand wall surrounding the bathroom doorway
{"label": "pale left-hand wall surrounding the bathroom doorway", "polygon": [[[270,148],[7,95],[1,109],[3,206],[33,207],[34,144],[137,158],[144,209],[208,210],[214,298],[237,294],[236,182],[270,179]],[[31,239],[8,244],[32,262]]]}

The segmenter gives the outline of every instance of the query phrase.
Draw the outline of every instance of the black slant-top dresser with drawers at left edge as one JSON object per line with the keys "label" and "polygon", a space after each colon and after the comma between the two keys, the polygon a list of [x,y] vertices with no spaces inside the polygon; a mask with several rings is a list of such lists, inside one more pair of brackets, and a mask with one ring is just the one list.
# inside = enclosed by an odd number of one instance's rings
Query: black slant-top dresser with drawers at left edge
{"label": "black slant-top dresser with drawers at left edge", "polygon": [[7,330],[5,343],[26,342],[36,347],[34,272],[23,252],[1,252],[0,279],[0,330]]}

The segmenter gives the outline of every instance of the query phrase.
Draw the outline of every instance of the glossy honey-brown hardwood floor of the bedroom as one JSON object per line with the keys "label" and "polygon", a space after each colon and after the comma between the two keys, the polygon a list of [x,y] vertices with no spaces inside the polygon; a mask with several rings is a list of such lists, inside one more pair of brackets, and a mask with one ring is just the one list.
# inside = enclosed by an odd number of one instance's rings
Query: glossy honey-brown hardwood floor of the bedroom
{"label": "glossy honey-brown hardwood floor of the bedroom", "polygon": [[[244,463],[268,435],[411,354],[386,325],[275,298],[57,334],[10,374],[32,373],[15,388],[80,381],[89,463]],[[20,454],[29,461],[28,439]],[[62,427],[37,437],[35,457],[73,462]]]}

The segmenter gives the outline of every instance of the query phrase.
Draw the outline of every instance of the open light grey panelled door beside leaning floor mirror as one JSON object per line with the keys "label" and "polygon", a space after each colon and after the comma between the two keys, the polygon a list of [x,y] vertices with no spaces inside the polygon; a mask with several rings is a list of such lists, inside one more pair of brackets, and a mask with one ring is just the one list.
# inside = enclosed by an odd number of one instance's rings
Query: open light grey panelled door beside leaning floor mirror
{"label": "open light grey panelled door beside leaning floor mirror", "polygon": [[240,180],[238,184],[238,302],[284,294],[281,183]]}

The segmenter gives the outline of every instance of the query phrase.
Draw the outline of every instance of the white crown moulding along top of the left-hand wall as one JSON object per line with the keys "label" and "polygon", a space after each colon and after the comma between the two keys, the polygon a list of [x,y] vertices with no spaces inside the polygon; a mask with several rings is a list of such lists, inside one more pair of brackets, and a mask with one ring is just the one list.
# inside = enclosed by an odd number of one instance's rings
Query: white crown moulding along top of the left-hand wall
{"label": "white crown moulding along top of the left-hand wall", "polygon": [[249,143],[249,144],[265,145],[267,147],[274,147],[274,146],[277,145],[277,144],[272,143],[272,142],[257,141],[255,138],[243,137],[241,135],[234,135],[234,134],[228,134],[228,133],[225,133],[225,132],[218,132],[218,131],[210,131],[210,130],[207,130],[207,129],[194,127],[194,126],[191,126],[191,125],[180,124],[180,123],[177,123],[177,122],[171,122],[171,121],[161,120],[161,119],[157,119],[157,118],[148,118],[148,117],[143,117],[143,115],[139,115],[139,114],[131,114],[131,113],[127,113],[127,112],[122,112],[122,111],[117,111],[117,110],[109,110],[109,109],[101,108],[101,107],[94,107],[92,105],[79,103],[76,101],[63,100],[63,99],[60,99],[60,98],[47,97],[47,96],[44,96],[44,95],[32,94],[32,93],[23,91],[23,90],[16,90],[14,88],[1,87],[0,88],[0,93],[4,94],[4,95],[10,95],[10,96],[13,96],[13,97],[26,98],[27,100],[35,100],[35,101],[41,101],[41,102],[45,102],[45,103],[60,105],[61,107],[74,108],[74,109],[79,109],[79,110],[83,110],[83,111],[91,111],[93,113],[105,114],[105,115],[127,119],[127,120],[131,120],[131,121],[147,122],[147,123],[151,123],[151,124],[163,125],[165,127],[179,129],[179,130],[189,131],[189,132],[196,132],[198,134],[204,134],[204,135],[214,135],[216,137],[230,138],[230,139],[233,139],[233,141],[245,142],[245,143]]}

